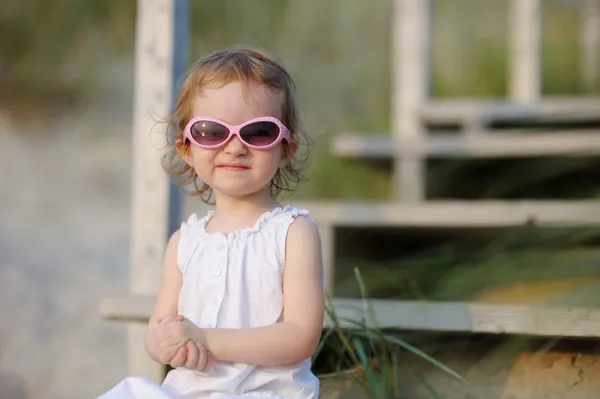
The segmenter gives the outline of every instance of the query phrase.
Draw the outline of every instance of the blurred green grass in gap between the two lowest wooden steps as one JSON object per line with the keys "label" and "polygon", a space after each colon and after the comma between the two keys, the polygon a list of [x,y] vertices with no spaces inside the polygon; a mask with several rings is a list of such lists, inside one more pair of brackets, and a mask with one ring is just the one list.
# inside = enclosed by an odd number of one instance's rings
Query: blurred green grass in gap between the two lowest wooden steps
{"label": "blurred green grass in gap between the two lowest wooden steps", "polygon": [[[488,295],[497,298],[501,290],[521,284],[530,286],[531,298],[535,287],[547,291],[555,286],[561,297],[548,293],[549,301],[573,306],[594,303],[593,296],[574,294],[586,285],[593,288],[600,277],[597,229],[524,226],[436,233],[339,232],[336,294],[361,297],[351,272],[360,267],[377,298],[469,301]],[[559,281],[562,287],[556,285]],[[569,292],[572,297],[564,297]]]}

